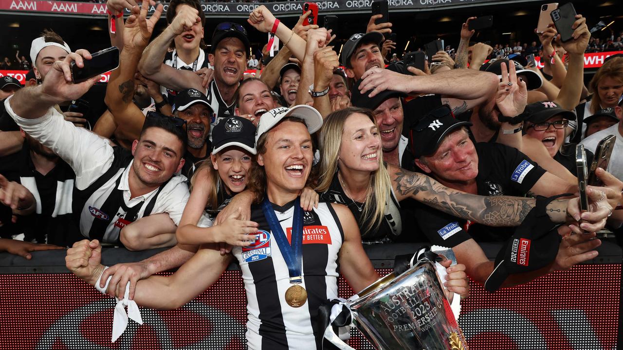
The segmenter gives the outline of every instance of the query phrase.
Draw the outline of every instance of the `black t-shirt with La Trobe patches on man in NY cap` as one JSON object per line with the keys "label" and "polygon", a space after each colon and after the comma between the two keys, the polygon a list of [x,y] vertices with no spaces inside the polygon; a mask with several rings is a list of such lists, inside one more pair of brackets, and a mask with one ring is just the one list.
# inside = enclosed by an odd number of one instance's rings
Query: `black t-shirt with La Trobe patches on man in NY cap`
{"label": "black t-shirt with La Trobe patches on man in NY cap", "polygon": [[[499,143],[477,143],[475,147],[478,154],[476,184],[480,196],[523,196],[545,174],[545,169],[515,148]],[[417,225],[432,244],[444,247],[455,247],[470,238],[499,242],[514,232],[512,227],[473,224],[421,203],[417,209]]]}

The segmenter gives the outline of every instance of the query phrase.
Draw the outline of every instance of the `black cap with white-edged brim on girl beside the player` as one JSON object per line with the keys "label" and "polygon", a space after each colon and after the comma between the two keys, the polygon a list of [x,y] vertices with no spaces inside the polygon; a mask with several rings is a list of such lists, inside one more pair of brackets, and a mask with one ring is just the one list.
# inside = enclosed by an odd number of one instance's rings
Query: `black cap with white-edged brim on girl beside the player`
{"label": "black cap with white-edged brim on girl beside the player", "polygon": [[251,154],[255,151],[255,125],[240,116],[223,118],[212,129],[212,154],[229,146],[238,146]]}

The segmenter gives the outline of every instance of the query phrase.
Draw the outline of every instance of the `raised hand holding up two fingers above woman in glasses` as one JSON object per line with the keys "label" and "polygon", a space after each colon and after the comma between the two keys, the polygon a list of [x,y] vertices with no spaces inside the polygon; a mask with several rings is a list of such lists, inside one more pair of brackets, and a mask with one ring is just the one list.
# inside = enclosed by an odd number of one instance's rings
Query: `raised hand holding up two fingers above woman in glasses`
{"label": "raised hand holding up two fingers above woman in glasses", "polygon": [[[513,61],[509,61],[508,65],[510,70],[506,69],[506,64],[502,63],[502,81],[498,84],[498,92],[495,95],[495,104],[502,112],[503,116],[513,118],[523,113],[528,103],[528,89],[526,83],[517,78],[515,72],[515,64]],[[514,120],[500,120],[509,121],[512,124]]]}

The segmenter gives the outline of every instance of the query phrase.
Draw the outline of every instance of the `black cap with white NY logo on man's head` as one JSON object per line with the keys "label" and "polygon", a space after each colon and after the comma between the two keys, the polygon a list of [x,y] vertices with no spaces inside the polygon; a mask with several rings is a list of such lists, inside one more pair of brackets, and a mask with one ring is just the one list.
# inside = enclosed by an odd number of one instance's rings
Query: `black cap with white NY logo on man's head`
{"label": "black cap with white NY logo on man's head", "polygon": [[463,126],[472,126],[472,123],[454,118],[448,105],[435,108],[411,126],[409,141],[413,156],[417,159],[434,154],[445,136]]}

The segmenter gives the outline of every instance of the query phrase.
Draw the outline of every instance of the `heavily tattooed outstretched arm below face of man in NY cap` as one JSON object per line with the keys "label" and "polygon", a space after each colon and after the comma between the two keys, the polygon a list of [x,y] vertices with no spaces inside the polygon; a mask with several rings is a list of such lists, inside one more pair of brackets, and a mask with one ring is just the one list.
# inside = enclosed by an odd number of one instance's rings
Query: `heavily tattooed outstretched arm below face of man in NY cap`
{"label": "heavily tattooed outstretched arm below face of man in NY cap", "polygon": [[488,226],[519,225],[536,205],[533,198],[468,194],[404,169],[397,171],[394,186],[401,196],[414,197],[447,214]]}

